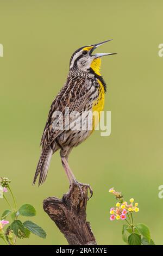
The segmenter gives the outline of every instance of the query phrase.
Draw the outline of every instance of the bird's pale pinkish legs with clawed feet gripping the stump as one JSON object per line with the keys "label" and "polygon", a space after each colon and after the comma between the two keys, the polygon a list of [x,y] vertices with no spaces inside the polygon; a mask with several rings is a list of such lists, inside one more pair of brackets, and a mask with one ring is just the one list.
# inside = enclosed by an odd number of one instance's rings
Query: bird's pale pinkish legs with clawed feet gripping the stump
{"label": "bird's pale pinkish legs with clawed feet gripping the stump", "polygon": [[[91,198],[92,195],[93,195],[93,190],[92,190],[91,186],[90,186],[89,184],[85,184],[85,183],[82,183],[82,182],[77,181],[77,179],[76,179],[76,177],[74,176],[74,174],[73,174],[73,172],[72,172],[70,166],[68,165],[68,162],[67,162],[66,158],[65,158],[65,157],[61,157],[61,160],[62,160],[62,165],[64,166],[64,168],[65,168],[65,170],[66,170],[66,174],[67,174],[67,176],[68,176],[68,179],[69,179],[69,180],[71,179],[70,184],[74,183],[74,184],[79,185],[79,186],[86,186],[86,187],[88,187],[89,190],[90,190],[90,194],[91,194],[90,198]],[[63,164],[63,163],[64,163],[64,164]],[[83,192],[82,192],[82,193],[83,193]]]}

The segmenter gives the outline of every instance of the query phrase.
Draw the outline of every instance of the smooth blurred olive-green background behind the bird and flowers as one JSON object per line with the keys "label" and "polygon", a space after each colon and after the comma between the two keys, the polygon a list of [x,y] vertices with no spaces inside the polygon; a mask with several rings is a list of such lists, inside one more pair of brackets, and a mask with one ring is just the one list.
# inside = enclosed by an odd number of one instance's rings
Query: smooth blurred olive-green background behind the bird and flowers
{"label": "smooth blurred olive-green background behind the bird and flowers", "polygon": [[[18,244],[65,245],[67,241],[42,209],[42,200],[61,197],[68,180],[60,156],[53,156],[48,179],[32,186],[39,143],[49,107],[64,84],[71,54],[84,45],[114,39],[100,52],[117,52],[102,60],[108,84],[105,111],[111,111],[111,136],[96,131],[74,149],[70,166],[79,181],[90,183],[94,196],[87,220],[99,245],[120,245],[122,221],[110,222],[115,198],[110,187],[134,197],[136,222],[151,229],[163,244],[162,65],[163,3],[157,1],[0,0],[1,172],[12,180],[17,204],[33,204],[47,239],[31,235]],[[99,50],[99,49],[98,49]],[[7,208],[3,199],[1,212]]]}

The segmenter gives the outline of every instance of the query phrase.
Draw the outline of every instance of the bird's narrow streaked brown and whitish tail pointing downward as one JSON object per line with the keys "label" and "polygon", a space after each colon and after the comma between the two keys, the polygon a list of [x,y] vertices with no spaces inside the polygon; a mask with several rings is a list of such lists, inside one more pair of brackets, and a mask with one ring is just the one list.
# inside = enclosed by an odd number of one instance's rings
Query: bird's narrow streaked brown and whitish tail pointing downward
{"label": "bird's narrow streaked brown and whitish tail pointing downward", "polygon": [[49,163],[51,162],[52,155],[53,155],[53,150],[51,148],[46,148],[45,150],[42,151],[39,159],[39,163],[37,164],[33,185],[35,184],[37,176],[39,174],[40,174],[39,186],[46,180]]}

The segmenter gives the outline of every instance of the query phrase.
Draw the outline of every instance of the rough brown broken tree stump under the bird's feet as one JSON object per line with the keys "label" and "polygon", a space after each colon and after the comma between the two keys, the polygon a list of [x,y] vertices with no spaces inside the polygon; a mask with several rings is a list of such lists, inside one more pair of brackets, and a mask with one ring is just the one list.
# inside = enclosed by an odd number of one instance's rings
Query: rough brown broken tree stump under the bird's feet
{"label": "rough brown broken tree stump under the bird's feet", "polygon": [[69,245],[97,245],[86,221],[87,187],[72,184],[62,199],[48,197],[43,209],[55,222]]}

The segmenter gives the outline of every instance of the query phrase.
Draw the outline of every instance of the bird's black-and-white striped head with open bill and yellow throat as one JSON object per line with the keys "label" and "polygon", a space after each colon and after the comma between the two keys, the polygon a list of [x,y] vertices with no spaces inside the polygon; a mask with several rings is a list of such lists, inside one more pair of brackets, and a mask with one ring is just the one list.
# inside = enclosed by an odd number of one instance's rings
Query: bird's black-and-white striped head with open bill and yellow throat
{"label": "bird's black-and-white striped head with open bill and yellow throat", "polygon": [[99,70],[101,67],[101,57],[112,55],[116,53],[95,53],[92,52],[100,45],[103,45],[105,42],[100,42],[99,44],[83,46],[75,51],[70,59],[70,70],[79,69],[84,72],[88,72],[92,69],[97,75],[100,75]]}

